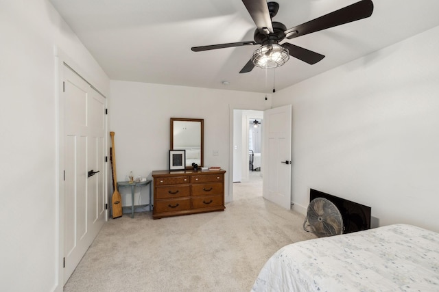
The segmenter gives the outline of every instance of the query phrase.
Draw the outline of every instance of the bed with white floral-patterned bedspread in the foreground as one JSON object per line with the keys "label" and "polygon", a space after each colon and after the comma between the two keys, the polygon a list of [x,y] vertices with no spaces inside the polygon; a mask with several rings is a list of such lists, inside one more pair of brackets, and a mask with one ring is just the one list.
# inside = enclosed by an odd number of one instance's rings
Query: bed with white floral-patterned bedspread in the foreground
{"label": "bed with white floral-patterned bedspread in the foreground", "polygon": [[292,243],[252,291],[439,291],[439,233],[394,224]]}

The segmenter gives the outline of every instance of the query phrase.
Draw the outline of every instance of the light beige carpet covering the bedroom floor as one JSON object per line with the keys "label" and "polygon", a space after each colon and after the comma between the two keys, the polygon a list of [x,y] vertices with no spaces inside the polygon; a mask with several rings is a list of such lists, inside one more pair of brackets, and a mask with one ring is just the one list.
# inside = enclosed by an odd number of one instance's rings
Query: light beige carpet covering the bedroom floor
{"label": "light beige carpet covering the bedroom floor", "polygon": [[64,291],[250,291],[276,250],[315,236],[302,229],[303,215],[247,184],[234,184],[224,212],[109,220]]}

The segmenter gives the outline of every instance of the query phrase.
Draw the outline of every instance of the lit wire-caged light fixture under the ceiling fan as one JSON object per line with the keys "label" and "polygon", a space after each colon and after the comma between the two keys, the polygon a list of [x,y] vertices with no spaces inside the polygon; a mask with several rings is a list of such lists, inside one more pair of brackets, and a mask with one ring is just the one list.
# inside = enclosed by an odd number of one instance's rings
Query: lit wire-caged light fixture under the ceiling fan
{"label": "lit wire-caged light fixture under the ceiling fan", "polygon": [[252,62],[259,68],[276,68],[289,59],[289,51],[280,44],[264,44],[253,52]]}

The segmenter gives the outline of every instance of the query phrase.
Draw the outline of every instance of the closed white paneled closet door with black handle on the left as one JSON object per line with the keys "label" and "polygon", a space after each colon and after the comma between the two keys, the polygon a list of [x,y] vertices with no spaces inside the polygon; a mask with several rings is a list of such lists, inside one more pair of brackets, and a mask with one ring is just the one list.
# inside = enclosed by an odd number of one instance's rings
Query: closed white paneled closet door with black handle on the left
{"label": "closed white paneled closet door with black handle on the left", "polygon": [[106,99],[63,70],[65,284],[105,221]]}

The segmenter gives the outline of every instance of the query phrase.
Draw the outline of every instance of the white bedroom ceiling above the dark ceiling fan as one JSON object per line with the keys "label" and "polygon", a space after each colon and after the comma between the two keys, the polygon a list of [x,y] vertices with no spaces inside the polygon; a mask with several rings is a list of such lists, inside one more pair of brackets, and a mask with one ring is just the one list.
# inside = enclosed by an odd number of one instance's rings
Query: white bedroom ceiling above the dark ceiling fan
{"label": "white bedroom ceiling above the dark ceiling fan", "polygon": [[[326,55],[321,62],[291,57],[276,69],[239,74],[257,46],[198,53],[191,47],[253,40],[255,25],[241,0],[50,1],[110,79],[264,93],[439,25],[438,0],[375,0],[370,18],[287,40]],[[290,28],[357,0],[277,2],[273,21]]]}

